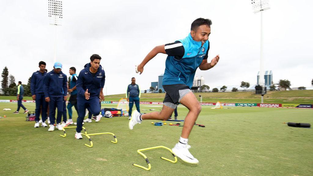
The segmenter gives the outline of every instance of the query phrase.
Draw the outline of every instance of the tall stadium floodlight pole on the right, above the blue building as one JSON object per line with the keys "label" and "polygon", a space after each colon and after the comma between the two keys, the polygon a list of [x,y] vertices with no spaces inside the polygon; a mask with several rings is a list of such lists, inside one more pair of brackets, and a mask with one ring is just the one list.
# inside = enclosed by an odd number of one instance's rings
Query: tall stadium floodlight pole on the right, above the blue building
{"label": "tall stadium floodlight pole on the right, above the blue building", "polygon": [[263,96],[265,93],[265,79],[264,79],[264,59],[263,59],[263,11],[269,9],[269,0],[251,0],[252,10],[254,13],[260,12],[260,71],[259,71],[259,85],[262,86],[261,103],[263,103]]}

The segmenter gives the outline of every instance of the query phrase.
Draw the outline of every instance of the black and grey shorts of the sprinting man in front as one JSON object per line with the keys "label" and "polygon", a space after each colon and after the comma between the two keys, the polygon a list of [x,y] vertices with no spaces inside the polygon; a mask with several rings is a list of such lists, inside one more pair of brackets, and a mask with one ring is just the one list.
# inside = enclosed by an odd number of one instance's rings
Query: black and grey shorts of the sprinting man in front
{"label": "black and grey shorts of the sprinting man in front", "polygon": [[184,84],[163,85],[166,95],[163,101],[163,105],[175,109],[182,97],[191,92],[189,87]]}

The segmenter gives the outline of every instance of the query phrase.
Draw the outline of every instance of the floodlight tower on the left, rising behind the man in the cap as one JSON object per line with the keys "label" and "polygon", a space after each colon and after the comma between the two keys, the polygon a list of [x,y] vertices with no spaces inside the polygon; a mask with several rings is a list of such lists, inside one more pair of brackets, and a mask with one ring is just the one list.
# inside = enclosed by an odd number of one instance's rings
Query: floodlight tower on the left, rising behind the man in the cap
{"label": "floodlight tower on the left, rising behind the man in the cap", "polygon": [[62,1],[48,0],[49,24],[54,25],[54,62],[56,61],[57,26],[62,26],[63,8]]}

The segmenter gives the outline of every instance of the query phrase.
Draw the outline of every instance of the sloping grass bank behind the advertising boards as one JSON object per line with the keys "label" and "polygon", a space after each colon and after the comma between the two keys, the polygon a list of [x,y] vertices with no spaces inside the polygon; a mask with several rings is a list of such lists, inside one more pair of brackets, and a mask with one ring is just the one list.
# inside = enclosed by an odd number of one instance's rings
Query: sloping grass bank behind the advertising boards
{"label": "sloping grass bank behind the advertising boards", "polygon": [[[195,93],[198,100],[202,96],[202,102],[215,103],[261,103],[261,96],[254,92],[209,92]],[[164,93],[142,93],[140,101],[162,102]],[[105,96],[105,101],[118,101],[125,98],[125,94]],[[0,96],[0,100],[15,100],[15,96]],[[24,97],[24,100],[33,100],[32,97]],[[264,96],[264,103],[281,104],[313,104],[313,90],[302,91],[268,91]]]}

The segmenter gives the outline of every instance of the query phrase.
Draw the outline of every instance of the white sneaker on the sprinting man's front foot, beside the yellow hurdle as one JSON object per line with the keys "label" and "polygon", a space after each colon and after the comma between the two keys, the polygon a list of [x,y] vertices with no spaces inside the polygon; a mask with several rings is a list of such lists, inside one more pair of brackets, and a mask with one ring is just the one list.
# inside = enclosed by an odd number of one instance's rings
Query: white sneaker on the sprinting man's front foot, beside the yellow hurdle
{"label": "white sneaker on the sprinting man's front foot, beside the yellow hurdle", "polygon": [[178,147],[178,143],[172,148],[173,153],[181,158],[184,162],[191,163],[191,164],[197,164],[199,163],[198,159],[194,158],[192,154],[189,152],[189,148],[191,148],[190,145],[185,144],[182,147]]}

